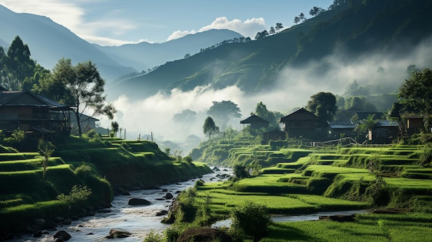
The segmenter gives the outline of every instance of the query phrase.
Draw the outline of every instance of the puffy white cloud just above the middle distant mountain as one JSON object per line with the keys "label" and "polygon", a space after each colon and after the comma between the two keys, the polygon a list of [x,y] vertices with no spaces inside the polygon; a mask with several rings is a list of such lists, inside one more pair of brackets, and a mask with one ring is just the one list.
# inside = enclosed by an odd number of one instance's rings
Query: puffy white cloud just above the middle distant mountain
{"label": "puffy white cloud just above the middle distant mountain", "polygon": [[207,26],[204,26],[200,28],[198,31],[195,30],[177,30],[171,34],[167,41],[173,40],[173,39],[179,39],[181,37],[186,36],[187,34],[195,34],[196,32],[204,32],[207,30],[233,30],[235,32],[238,32],[239,34],[242,34],[244,37],[251,37],[251,39],[255,38],[255,34],[257,32],[261,32],[262,30],[266,29],[266,22],[263,18],[259,19],[246,19],[246,21],[241,21],[239,19],[233,19],[232,21],[229,21],[226,17],[218,17],[210,23]]}

